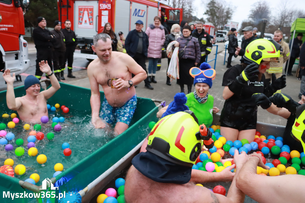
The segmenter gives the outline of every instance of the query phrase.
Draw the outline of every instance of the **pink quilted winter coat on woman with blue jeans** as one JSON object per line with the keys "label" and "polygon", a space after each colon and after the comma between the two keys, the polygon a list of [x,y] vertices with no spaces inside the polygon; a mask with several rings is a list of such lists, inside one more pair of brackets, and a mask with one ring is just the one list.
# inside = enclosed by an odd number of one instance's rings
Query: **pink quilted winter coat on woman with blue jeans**
{"label": "pink quilted winter coat on woman with blue jeans", "polygon": [[161,58],[162,57],[162,47],[165,41],[165,32],[163,25],[160,27],[155,27],[155,25],[150,24],[145,33],[148,35],[148,58]]}

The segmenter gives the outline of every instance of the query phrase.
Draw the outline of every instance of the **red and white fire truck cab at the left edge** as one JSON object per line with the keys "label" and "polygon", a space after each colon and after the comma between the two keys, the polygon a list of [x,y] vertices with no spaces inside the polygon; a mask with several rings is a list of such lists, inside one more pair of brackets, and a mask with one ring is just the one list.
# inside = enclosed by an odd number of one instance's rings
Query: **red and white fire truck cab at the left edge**
{"label": "red and white fire truck cab at the left edge", "polygon": [[25,34],[23,9],[28,0],[0,0],[0,70],[10,69],[21,81],[20,73],[30,67]]}

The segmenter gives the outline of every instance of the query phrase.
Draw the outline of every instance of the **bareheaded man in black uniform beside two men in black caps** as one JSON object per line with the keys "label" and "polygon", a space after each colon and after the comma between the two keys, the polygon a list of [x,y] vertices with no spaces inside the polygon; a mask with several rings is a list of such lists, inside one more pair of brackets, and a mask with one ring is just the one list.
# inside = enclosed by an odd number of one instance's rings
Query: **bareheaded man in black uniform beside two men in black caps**
{"label": "bareheaded man in black uniform beside two men in black caps", "polygon": [[[65,21],[65,27],[61,31],[63,32],[63,35],[65,36],[65,43],[66,43],[66,54],[65,54],[65,63],[68,59],[68,76],[70,78],[75,78],[74,75],[72,75],[72,64],[73,64],[73,53],[75,50],[75,47],[77,45],[76,42],[76,35],[73,30],[70,29],[71,22],[70,20]],[[65,66],[61,70],[61,79],[65,80],[65,77],[63,76],[63,71],[65,70]]]}

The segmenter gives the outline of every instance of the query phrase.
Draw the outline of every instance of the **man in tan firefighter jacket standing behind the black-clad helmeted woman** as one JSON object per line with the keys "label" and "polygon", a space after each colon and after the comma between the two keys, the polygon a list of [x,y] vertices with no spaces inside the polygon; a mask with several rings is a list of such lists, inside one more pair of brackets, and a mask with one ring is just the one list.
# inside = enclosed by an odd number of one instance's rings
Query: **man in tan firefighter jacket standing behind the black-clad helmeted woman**
{"label": "man in tan firefighter jacket standing behind the black-clad helmeted woman", "polygon": [[[283,38],[283,33],[281,30],[276,30],[274,32],[274,37],[273,39],[278,42],[282,48],[283,51],[281,52],[281,55],[279,57],[279,63],[277,62],[270,62],[270,68],[266,70],[265,72],[265,77],[266,79],[272,79],[272,73],[275,74],[276,78],[279,78],[282,76],[283,72],[283,64],[289,59],[290,57],[290,50],[289,50],[289,45],[282,40]],[[276,91],[276,93],[281,93],[281,90]]]}

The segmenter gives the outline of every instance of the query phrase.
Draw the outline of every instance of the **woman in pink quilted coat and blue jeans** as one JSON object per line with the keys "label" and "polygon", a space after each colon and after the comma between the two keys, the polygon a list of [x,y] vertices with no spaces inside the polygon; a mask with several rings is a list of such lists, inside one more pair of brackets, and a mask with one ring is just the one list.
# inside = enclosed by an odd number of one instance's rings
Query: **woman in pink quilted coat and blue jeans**
{"label": "woman in pink quilted coat and blue jeans", "polygon": [[154,24],[150,24],[146,32],[148,35],[148,81],[157,83],[156,69],[158,59],[162,56],[162,47],[165,41],[165,32],[164,27],[161,25],[161,18],[156,16],[154,17]]}

